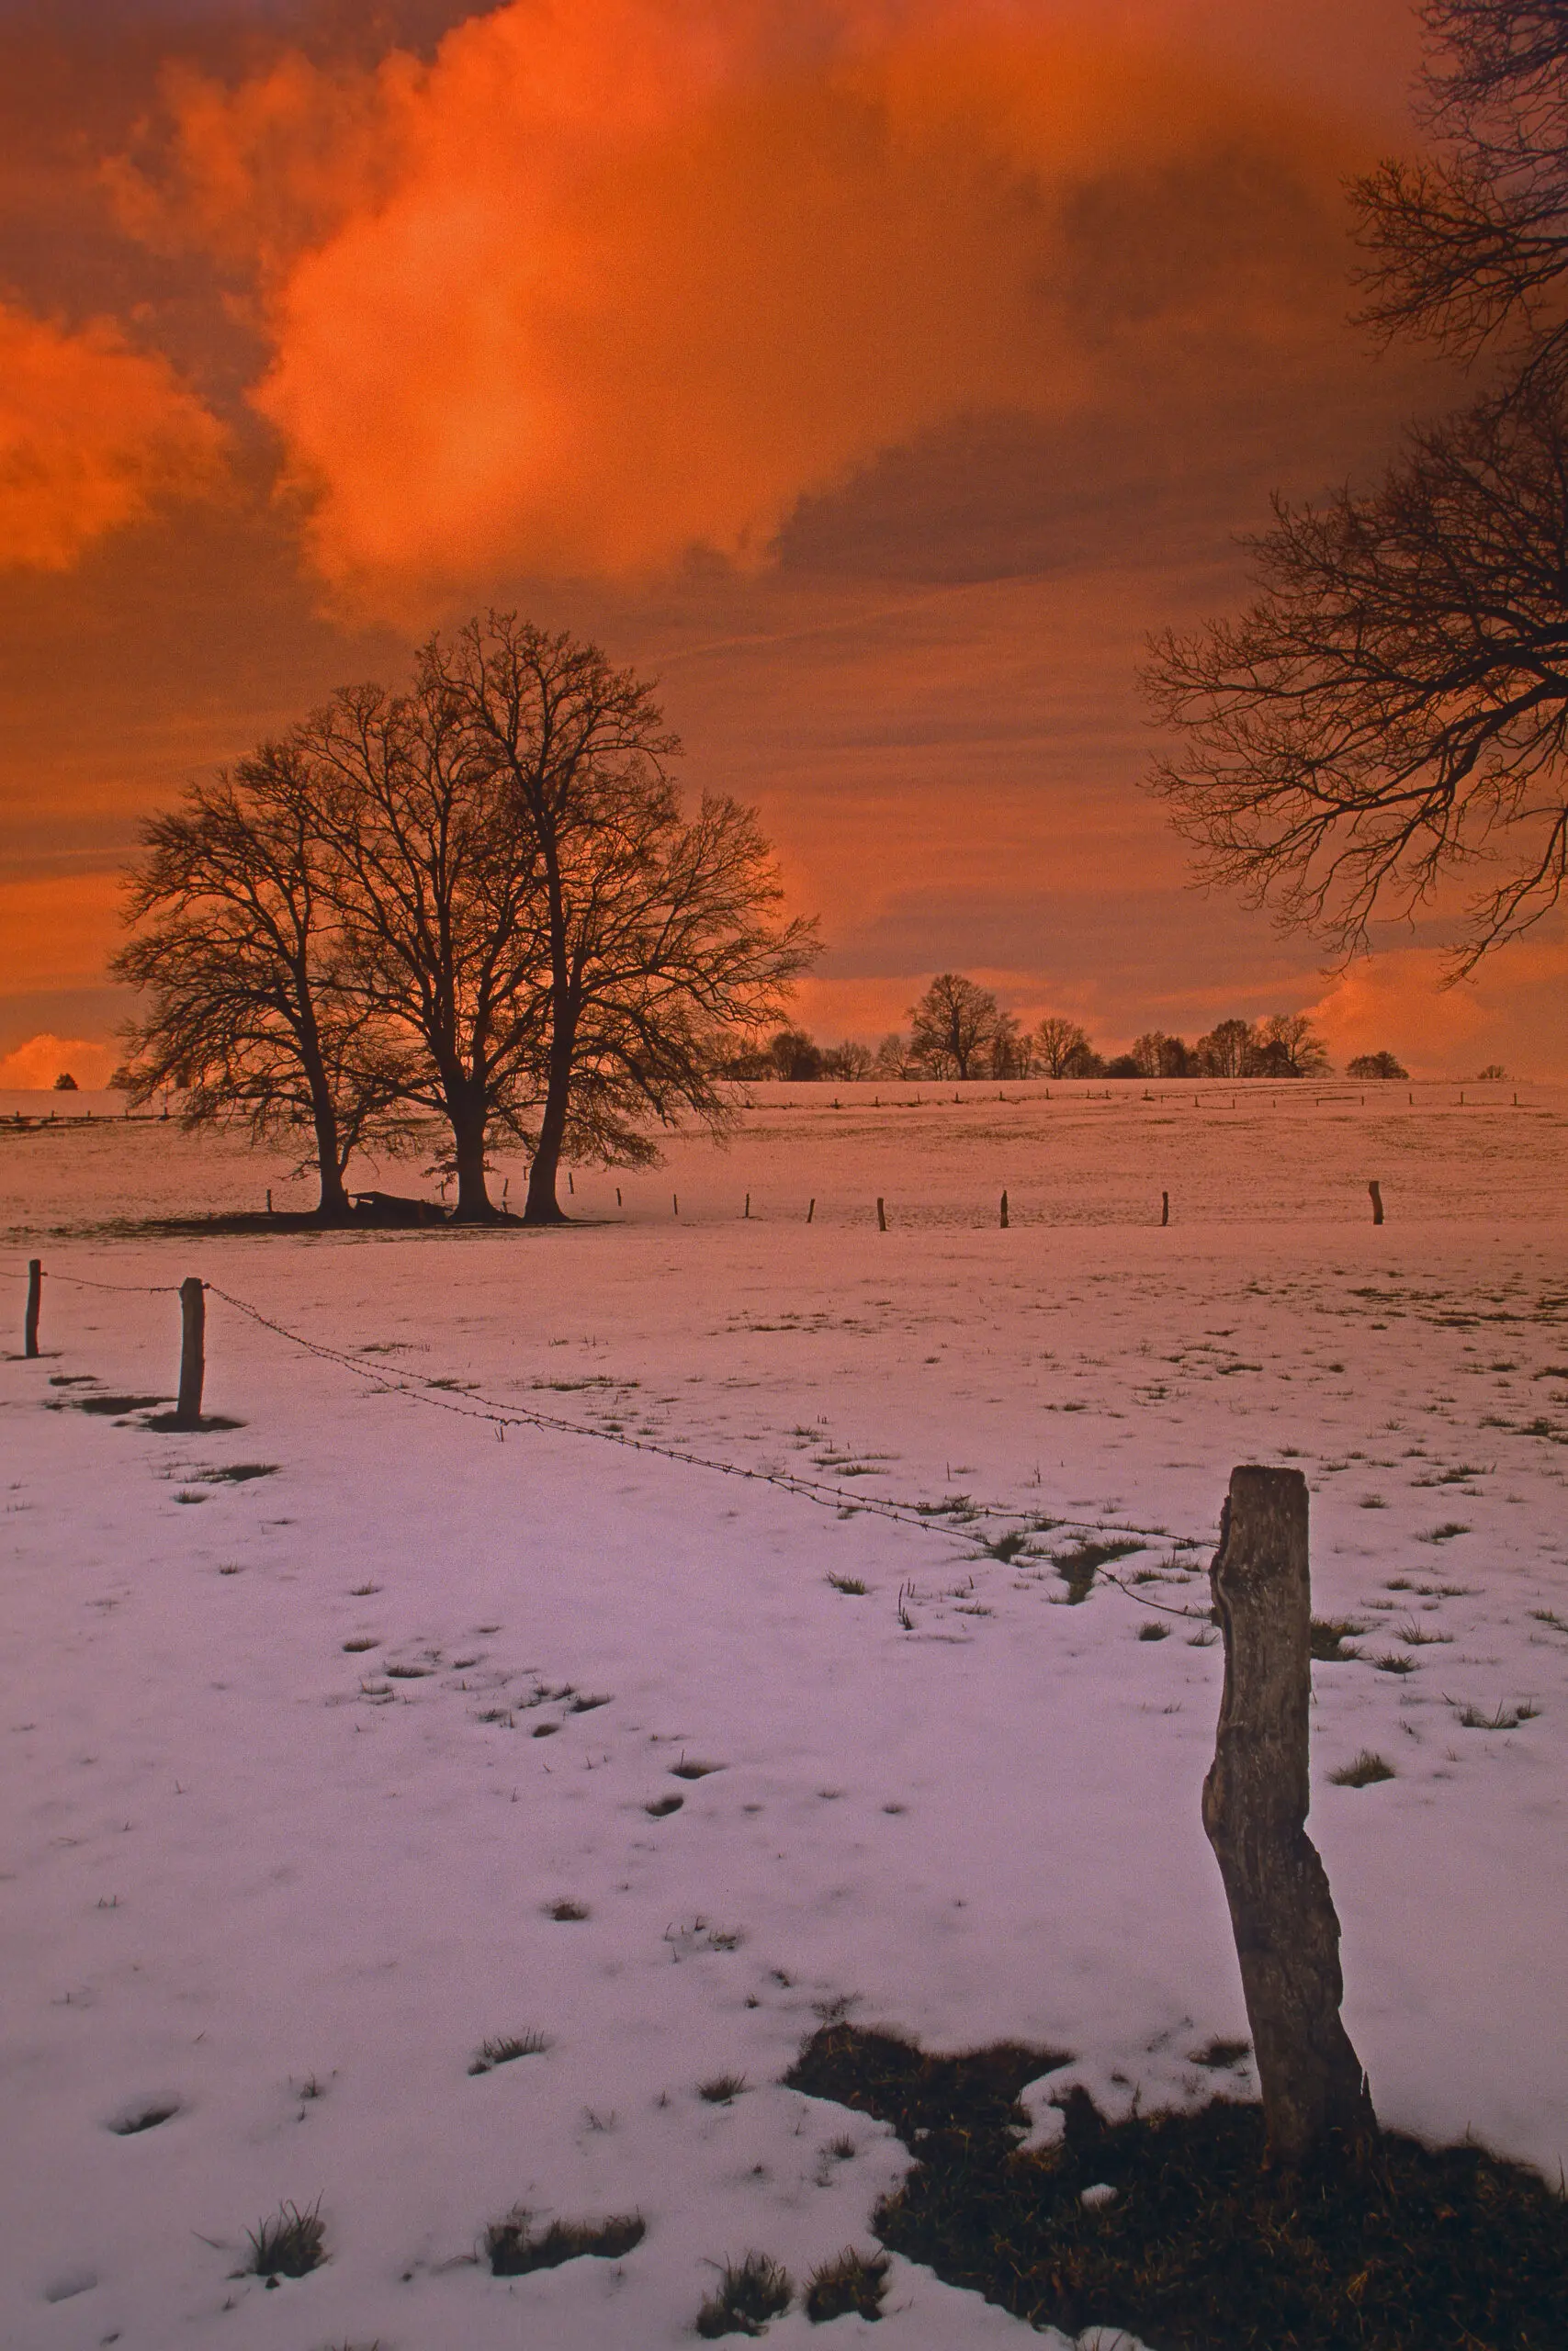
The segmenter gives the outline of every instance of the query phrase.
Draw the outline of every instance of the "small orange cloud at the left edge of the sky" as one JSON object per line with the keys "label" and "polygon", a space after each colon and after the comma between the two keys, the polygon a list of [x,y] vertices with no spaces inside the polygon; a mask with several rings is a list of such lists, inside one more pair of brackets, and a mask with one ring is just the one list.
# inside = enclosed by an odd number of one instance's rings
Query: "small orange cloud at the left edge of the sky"
{"label": "small orange cloud at the left edge of the sky", "polygon": [[68,569],[160,498],[209,489],[223,440],[118,327],[68,331],[0,303],[0,564]]}

